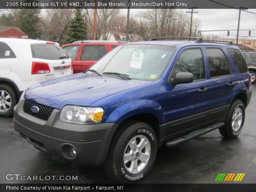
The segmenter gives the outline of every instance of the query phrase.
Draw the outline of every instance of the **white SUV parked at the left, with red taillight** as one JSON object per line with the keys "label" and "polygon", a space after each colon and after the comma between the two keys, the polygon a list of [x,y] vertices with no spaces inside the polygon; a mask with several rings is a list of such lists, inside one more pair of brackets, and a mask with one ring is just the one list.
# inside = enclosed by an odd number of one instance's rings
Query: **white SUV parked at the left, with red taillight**
{"label": "white SUV parked at the left, with red taillight", "polygon": [[72,74],[58,43],[0,38],[0,117],[10,117],[22,92],[48,79]]}

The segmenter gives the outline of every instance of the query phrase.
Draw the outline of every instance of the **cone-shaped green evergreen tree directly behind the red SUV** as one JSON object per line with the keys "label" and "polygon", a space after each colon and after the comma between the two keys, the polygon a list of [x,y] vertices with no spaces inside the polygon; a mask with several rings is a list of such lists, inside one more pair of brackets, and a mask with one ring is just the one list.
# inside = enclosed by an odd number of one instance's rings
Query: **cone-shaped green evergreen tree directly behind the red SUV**
{"label": "cone-shaped green evergreen tree directly behind the red SUV", "polygon": [[80,9],[75,9],[75,16],[68,28],[68,37],[65,43],[72,43],[77,40],[86,40],[86,26]]}

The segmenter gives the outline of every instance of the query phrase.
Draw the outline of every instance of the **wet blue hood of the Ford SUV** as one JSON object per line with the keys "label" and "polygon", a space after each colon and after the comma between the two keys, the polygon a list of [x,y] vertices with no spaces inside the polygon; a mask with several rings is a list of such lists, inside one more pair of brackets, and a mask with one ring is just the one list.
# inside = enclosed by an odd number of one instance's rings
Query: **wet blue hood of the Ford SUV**
{"label": "wet blue hood of the Ford SUV", "polygon": [[26,90],[24,98],[57,109],[65,105],[90,106],[112,94],[149,83],[80,73],[36,84]]}

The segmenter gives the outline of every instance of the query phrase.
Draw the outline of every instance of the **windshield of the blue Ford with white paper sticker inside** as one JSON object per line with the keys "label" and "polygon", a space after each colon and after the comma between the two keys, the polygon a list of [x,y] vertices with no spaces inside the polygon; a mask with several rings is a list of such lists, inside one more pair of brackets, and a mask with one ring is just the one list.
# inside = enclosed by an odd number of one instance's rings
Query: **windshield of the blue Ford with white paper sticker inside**
{"label": "windshield of the blue Ford with white paper sticker inside", "polygon": [[[156,80],[170,61],[175,48],[158,45],[118,46],[90,69],[107,76]],[[86,72],[93,74],[92,71]]]}

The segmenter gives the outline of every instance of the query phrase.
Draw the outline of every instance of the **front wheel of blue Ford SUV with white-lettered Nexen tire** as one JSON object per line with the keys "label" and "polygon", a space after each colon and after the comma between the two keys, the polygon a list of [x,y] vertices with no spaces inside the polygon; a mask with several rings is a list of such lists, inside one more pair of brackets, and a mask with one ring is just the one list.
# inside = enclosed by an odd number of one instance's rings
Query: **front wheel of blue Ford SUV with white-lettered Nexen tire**
{"label": "front wheel of blue Ford SUV with white-lettered Nexen tire", "polygon": [[[134,137],[142,137],[142,139],[147,143],[146,147],[141,149],[140,152],[138,152],[138,145],[142,143],[143,140],[140,140],[138,138],[137,141],[137,138],[135,138],[136,147],[134,148],[134,150],[131,150],[130,145],[128,145],[129,142],[131,142],[131,140]],[[150,143],[150,147],[148,145],[148,141]],[[128,148],[130,148],[130,151],[128,150]],[[144,164],[140,161],[139,158],[143,157],[148,148],[150,148],[150,152],[148,153],[149,157],[146,158],[148,161],[147,163]],[[132,173],[128,171],[127,167],[129,166],[129,162],[126,162],[126,164],[124,162],[125,152],[130,152],[133,155],[131,155],[132,160],[130,160],[130,169],[132,169],[131,164],[132,161],[134,161],[138,163],[138,168],[139,166],[141,168],[139,172]],[[156,134],[154,133],[154,130],[144,122],[127,122],[126,124],[123,124],[120,127],[118,133],[115,135],[114,141],[112,142],[112,146],[110,146],[110,151],[108,153],[107,160],[104,164],[104,168],[108,176],[117,182],[138,182],[142,180],[150,172],[156,158],[156,152],[157,138]],[[137,158],[137,160],[135,158]],[[136,171],[138,171],[138,169],[136,169]]]}

